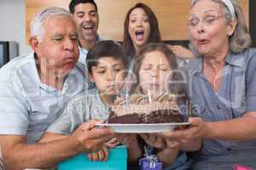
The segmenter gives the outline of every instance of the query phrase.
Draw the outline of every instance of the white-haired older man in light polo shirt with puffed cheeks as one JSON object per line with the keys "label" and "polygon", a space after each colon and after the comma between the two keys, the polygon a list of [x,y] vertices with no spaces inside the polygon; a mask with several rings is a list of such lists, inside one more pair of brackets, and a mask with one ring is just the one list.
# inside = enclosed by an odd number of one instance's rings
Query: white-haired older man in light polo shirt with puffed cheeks
{"label": "white-haired older man in light polo shirt with puffed cheeks", "polygon": [[7,169],[51,167],[81,152],[102,149],[113,138],[96,121],[82,124],[68,139],[38,144],[67,101],[86,88],[76,66],[79,49],[73,18],[62,8],[45,8],[31,24],[34,53],[0,70],[0,144]]}

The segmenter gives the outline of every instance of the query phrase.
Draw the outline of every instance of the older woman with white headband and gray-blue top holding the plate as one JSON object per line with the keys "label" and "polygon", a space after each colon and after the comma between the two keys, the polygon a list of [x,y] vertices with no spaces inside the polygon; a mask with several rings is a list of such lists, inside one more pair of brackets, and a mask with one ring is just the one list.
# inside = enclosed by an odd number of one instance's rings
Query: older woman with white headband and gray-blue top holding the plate
{"label": "older woman with white headband and gray-blue top holding the plate", "polygon": [[181,143],[203,139],[196,170],[256,168],[256,50],[235,0],[195,0],[189,35],[201,54],[190,63],[191,126],[164,133]]}

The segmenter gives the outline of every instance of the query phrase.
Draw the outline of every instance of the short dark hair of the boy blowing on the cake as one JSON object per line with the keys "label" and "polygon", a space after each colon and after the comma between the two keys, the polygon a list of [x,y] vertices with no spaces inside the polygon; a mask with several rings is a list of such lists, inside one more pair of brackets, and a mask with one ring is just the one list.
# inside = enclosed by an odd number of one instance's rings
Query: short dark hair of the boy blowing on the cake
{"label": "short dark hair of the boy blowing on the cake", "polygon": [[117,42],[108,40],[96,42],[96,44],[90,48],[86,58],[88,71],[91,73],[92,67],[97,65],[97,60],[106,56],[113,57],[113,59],[120,59],[125,68],[128,65],[128,60],[125,57],[123,48]]}

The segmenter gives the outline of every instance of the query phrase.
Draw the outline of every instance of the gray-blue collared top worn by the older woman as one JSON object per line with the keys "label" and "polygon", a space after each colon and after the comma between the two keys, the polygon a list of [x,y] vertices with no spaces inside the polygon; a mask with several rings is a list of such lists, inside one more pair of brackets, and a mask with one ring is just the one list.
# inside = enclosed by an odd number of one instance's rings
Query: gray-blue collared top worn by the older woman
{"label": "gray-blue collared top worn by the older woman", "polygon": [[[202,58],[190,62],[189,77],[193,112],[205,122],[230,120],[256,111],[256,49],[227,56],[218,94],[202,73]],[[256,167],[256,140],[204,139],[201,151],[193,158],[196,170],[232,169],[236,163]]]}

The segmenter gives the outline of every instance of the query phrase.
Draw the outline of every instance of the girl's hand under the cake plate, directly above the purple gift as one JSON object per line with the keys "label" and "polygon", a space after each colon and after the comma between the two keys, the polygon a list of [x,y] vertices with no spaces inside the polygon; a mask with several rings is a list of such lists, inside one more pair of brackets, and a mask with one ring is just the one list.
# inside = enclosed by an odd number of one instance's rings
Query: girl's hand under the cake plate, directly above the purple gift
{"label": "girl's hand under the cake plate, directly above the purple gift", "polygon": [[142,133],[140,136],[147,144],[154,146],[154,148],[166,148],[166,140],[158,133]]}

